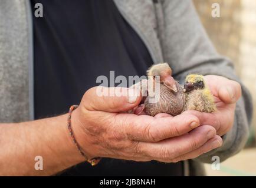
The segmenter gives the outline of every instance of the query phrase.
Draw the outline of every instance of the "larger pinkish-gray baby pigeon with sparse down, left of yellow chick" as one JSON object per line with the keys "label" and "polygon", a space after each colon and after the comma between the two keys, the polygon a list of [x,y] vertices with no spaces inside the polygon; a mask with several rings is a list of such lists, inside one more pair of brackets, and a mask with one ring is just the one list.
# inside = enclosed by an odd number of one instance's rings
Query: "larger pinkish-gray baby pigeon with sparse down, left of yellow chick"
{"label": "larger pinkish-gray baby pigeon with sparse down, left of yellow chick", "polygon": [[[179,115],[185,106],[185,93],[183,93],[182,86],[173,79],[172,69],[170,69],[168,63],[151,66],[147,70],[147,76],[148,96],[144,102],[146,114],[150,116],[155,116],[157,113],[169,113],[172,116]],[[153,88],[150,88],[151,86]],[[155,95],[150,93],[152,90]],[[157,98],[156,95],[158,95]],[[150,101],[152,97],[156,99],[155,102]]]}

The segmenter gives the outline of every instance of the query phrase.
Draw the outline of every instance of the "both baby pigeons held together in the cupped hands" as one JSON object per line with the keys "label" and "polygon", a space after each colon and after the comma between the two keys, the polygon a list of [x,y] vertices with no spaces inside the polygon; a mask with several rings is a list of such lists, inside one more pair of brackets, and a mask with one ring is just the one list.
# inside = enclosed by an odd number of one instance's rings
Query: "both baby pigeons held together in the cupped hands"
{"label": "both baby pigeons held together in the cupped hands", "polygon": [[[140,104],[140,110],[147,115],[155,116],[157,113],[168,113],[172,116],[179,115],[185,110],[198,110],[199,112],[215,112],[216,106],[211,91],[202,75],[186,76],[184,86],[181,86],[172,77],[172,69],[168,63],[153,65],[147,70],[147,80],[142,80],[133,85],[139,87],[146,97]],[[158,83],[158,86],[157,86]],[[158,98],[156,98],[158,95]],[[145,96],[145,95],[143,95]],[[157,99],[155,102],[152,99]]]}

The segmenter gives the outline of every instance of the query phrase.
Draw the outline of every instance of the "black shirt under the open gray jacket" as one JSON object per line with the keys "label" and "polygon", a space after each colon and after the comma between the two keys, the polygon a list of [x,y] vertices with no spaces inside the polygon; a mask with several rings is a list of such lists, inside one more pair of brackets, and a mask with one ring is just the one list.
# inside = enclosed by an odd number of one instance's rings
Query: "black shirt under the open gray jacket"
{"label": "black shirt under the open gray jacket", "polygon": [[[43,5],[34,21],[35,118],[60,115],[78,104],[97,76],[145,75],[152,58],[113,1],[31,0]],[[75,147],[75,146],[74,146]],[[63,175],[182,176],[182,163],[103,159],[71,167]]]}

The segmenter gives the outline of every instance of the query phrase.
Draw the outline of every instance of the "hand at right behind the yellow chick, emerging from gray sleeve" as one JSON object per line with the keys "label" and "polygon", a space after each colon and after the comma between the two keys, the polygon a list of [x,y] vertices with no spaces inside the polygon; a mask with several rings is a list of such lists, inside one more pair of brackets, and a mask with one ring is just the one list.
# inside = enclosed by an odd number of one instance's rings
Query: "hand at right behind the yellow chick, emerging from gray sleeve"
{"label": "hand at right behind the yellow chick, emerging from gray sleeve", "polygon": [[234,123],[235,103],[241,97],[241,86],[238,82],[222,76],[207,75],[205,80],[214,95],[218,110],[214,113],[197,111],[185,113],[199,117],[202,125],[213,126],[217,135],[222,136],[232,128]]}

